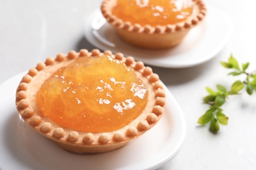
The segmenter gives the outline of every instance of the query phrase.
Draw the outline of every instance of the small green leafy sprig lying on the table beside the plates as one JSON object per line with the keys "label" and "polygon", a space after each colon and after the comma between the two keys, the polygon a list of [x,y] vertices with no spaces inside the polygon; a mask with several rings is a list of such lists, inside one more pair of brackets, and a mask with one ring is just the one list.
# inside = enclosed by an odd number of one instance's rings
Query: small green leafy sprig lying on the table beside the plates
{"label": "small green leafy sprig lying on the table beside the plates", "polygon": [[232,69],[232,72],[228,75],[245,75],[246,77],[243,82],[241,80],[236,80],[229,91],[221,84],[217,84],[217,91],[206,87],[206,91],[209,94],[203,98],[203,103],[209,105],[209,109],[198,119],[198,124],[204,126],[210,122],[209,130],[212,133],[217,133],[219,131],[219,124],[228,124],[228,117],[223,113],[221,106],[224,105],[229,95],[240,94],[238,92],[244,89],[244,87],[249,95],[252,95],[253,91],[256,92],[256,73],[247,73],[249,63],[244,63],[241,65],[242,67],[240,67],[238,61],[231,54],[228,61],[222,61],[221,65],[227,69]]}

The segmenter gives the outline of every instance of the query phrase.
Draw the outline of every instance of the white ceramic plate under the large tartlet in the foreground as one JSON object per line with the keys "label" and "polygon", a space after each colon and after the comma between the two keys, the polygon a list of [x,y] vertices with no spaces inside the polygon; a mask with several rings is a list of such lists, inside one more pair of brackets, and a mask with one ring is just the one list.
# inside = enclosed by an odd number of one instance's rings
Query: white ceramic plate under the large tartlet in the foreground
{"label": "white ceramic plate under the large tartlet in the foreground", "polygon": [[15,91],[25,73],[0,85],[0,169],[156,169],[179,152],[185,137],[182,111],[167,88],[160,122],[123,148],[103,154],[72,154],[35,132],[15,107]]}

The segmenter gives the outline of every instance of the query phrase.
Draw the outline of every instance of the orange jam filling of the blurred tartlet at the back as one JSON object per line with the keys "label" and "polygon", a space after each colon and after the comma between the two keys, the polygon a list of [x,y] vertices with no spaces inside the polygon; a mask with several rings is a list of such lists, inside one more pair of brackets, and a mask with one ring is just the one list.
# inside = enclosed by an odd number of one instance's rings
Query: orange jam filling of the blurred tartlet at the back
{"label": "orange jam filling of the blurred tartlet at the back", "polygon": [[116,0],[112,13],[123,21],[140,25],[182,22],[193,12],[192,0]]}

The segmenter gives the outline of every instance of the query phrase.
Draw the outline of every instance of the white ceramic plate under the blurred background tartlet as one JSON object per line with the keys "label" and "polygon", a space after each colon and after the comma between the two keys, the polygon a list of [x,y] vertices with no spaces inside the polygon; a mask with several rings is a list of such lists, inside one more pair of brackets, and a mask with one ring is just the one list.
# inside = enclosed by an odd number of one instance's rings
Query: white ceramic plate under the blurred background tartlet
{"label": "white ceramic plate under the blurred background tartlet", "polygon": [[168,50],[144,50],[122,41],[106,22],[100,10],[85,21],[85,38],[101,50],[122,52],[149,65],[184,68],[199,65],[216,56],[233,32],[228,16],[213,8],[207,8],[207,16],[194,27],[179,46]]}

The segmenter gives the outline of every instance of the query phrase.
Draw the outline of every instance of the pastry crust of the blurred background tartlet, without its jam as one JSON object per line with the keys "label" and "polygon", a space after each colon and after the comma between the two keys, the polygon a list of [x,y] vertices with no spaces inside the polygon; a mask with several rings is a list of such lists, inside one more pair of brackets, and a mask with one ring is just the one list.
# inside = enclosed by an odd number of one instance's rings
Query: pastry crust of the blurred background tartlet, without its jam
{"label": "pastry crust of the blurred background tartlet, without its jam", "polygon": [[[205,18],[207,12],[202,0],[191,0],[192,14],[186,16],[186,20],[163,25],[143,25],[140,23],[132,23],[122,19],[121,16],[117,17],[113,14],[112,10],[116,7],[117,1],[118,0],[104,0],[101,5],[102,15],[106,18],[106,21],[114,27],[117,35],[119,35],[121,39],[133,46],[148,49],[164,49],[177,46],[182,42],[188,31]],[[137,12],[134,13],[136,15]],[[144,14],[140,15],[143,16]],[[127,16],[129,16],[129,13]],[[150,20],[150,18],[148,18],[148,20]]]}

